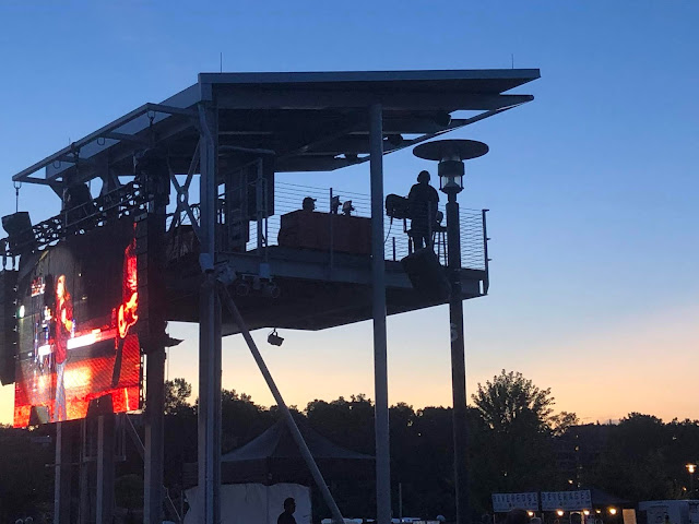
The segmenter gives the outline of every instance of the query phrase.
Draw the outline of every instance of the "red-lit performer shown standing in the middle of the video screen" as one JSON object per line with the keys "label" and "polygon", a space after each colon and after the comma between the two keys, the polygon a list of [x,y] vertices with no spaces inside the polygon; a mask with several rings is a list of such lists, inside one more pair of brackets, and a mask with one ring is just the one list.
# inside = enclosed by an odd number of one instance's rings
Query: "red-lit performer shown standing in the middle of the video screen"
{"label": "red-lit performer shown standing in the middle of the video screen", "polygon": [[68,359],[68,340],[73,330],[73,300],[66,288],[66,275],[60,275],[56,281],[56,408],[54,419],[61,421],[68,419],[66,409],[66,361]]}

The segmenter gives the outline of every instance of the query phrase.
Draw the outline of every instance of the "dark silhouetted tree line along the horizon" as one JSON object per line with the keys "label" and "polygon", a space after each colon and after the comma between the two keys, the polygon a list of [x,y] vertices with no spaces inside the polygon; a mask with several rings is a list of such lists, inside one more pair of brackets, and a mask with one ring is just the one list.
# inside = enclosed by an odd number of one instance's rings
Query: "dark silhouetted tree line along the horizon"
{"label": "dark silhouetted tree line along the horizon", "polygon": [[[166,383],[165,484],[176,505],[182,490],[183,464],[197,461],[197,402],[183,379]],[[466,412],[471,508],[474,521],[491,511],[493,492],[553,491],[596,487],[640,500],[691,498],[685,465],[699,458],[699,420],[661,419],[631,413],[616,425],[579,424],[576,414],[554,410],[549,389],[540,389],[519,372],[505,371],[472,395]],[[333,401],[315,400],[294,407],[301,424],[344,448],[374,454],[374,403],[364,394]],[[448,407],[390,407],[393,513],[452,519],[452,410]],[[222,452],[251,441],[281,418],[235,390],[222,394]],[[52,450],[37,453],[32,430],[0,429],[0,519],[51,501]],[[34,439],[34,440],[32,440]],[[132,445],[132,444],[130,444]],[[142,463],[127,446],[117,464],[117,503],[142,504]],[[43,450],[43,451],[42,451]],[[699,484],[699,483],[697,483]],[[330,479],[341,510],[348,516],[374,513],[374,476]],[[400,486],[400,488],[399,488]],[[50,504],[49,504],[50,505]],[[322,504],[316,512],[323,516]]]}

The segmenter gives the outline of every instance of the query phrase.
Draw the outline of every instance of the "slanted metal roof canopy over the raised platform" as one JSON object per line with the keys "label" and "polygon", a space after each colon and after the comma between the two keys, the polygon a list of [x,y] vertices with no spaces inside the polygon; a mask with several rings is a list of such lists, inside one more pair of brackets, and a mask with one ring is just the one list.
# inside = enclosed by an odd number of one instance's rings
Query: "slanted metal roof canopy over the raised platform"
{"label": "slanted metal roof canopy over the raised platform", "polygon": [[[132,175],[133,154],[167,151],[188,171],[199,143],[198,104],[218,109],[220,171],[260,155],[275,170],[330,171],[368,160],[367,108],[383,108],[384,154],[511,109],[533,96],[503,94],[540,78],[537,69],[201,73],[162,104],[145,104],[14,175],[14,181],[64,184]],[[452,118],[454,111],[477,111]],[[45,168],[45,177],[33,176]]]}

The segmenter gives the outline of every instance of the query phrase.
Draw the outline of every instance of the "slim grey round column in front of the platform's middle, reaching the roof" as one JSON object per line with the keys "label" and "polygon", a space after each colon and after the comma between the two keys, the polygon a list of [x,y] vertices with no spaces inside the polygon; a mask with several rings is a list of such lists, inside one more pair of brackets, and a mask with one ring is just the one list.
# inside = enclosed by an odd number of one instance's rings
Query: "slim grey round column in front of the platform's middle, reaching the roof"
{"label": "slim grey round column in front of the platform's middle, reaching the roof", "polygon": [[369,109],[371,172],[371,284],[374,310],[374,389],[376,396],[376,513],[378,524],[391,522],[389,384],[386,343],[386,262],[383,257],[383,111]]}

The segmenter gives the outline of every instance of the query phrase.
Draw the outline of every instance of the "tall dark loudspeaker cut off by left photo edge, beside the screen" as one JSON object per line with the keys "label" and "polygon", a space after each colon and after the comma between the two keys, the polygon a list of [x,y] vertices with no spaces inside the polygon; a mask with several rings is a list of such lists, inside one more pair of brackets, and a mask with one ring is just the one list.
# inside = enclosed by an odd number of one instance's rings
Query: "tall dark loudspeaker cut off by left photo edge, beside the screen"
{"label": "tall dark loudspeaker cut off by left photo edge, beside the screen", "polygon": [[14,382],[17,354],[16,271],[0,272],[0,382]]}

